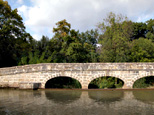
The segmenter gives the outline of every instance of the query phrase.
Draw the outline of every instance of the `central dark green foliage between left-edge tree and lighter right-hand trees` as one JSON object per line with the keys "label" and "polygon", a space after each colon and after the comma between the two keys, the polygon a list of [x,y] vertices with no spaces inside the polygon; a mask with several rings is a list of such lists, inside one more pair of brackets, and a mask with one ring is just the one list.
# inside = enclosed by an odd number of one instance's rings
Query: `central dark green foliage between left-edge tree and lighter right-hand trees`
{"label": "central dark green foliage between left-edge tree and lighter right-hand trees", "polygon": [[62,20],[56,23],[53,28],[54,37],[49,40],[42,36],[40,41],[32,40],[32,52],[23,56],[18,63],[36,64],[36,63],[76,63],[76,62],[97,62],[97,30],[79,31],[71,30],[71,25]]}

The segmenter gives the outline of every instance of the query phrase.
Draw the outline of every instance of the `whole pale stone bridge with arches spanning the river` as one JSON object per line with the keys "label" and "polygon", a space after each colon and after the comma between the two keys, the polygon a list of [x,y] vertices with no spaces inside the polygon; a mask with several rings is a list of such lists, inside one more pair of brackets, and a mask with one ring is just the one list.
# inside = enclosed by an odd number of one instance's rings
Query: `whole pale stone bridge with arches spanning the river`
{"label": "whole pale stone bridge with arches spanning the river", "polygon": [[88,89],[96,78],[111,76],[121,79],[124,89],[131,89],[136,80],[154,76],[154,63],[42,63],[0,68],[0,87],[39,84],[45,88],[48,80],[60,76],[78,80],[82,89]]}

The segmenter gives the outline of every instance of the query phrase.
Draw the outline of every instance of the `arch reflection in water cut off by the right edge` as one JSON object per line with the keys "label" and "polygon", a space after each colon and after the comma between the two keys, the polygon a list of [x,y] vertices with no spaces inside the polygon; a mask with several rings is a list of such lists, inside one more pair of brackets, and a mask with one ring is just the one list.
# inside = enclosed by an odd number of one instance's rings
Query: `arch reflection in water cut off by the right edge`
{"label": "arch reflection in water cut off by the right edge", "polygon": [[154,103],[154,90],[135,90],[133,91],[133,95],[137,100],[146,102],[146,103]]}

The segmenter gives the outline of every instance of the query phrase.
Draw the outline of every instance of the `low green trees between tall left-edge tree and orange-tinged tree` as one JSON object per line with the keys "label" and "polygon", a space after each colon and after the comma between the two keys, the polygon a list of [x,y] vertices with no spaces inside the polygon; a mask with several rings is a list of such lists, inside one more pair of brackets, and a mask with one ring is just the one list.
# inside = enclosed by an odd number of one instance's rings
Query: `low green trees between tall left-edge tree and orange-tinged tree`
{"label": "low green trees between tall left-edge tree and orange-tinged tree", "polygon": [[48,37],[42,36],[39,41],[32,40],[32,50],[28,55],[22,56],[18,65],[50,63],[52,61],[52,52],[49,49],[50,40]]}

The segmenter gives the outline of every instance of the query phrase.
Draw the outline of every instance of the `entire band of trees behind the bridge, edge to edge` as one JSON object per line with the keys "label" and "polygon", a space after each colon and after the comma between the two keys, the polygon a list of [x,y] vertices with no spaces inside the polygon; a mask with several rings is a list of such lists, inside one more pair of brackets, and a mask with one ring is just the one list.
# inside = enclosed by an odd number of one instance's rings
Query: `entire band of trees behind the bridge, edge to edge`
{"label": "entire band of trees behind the bridge, edge to edge", "polygon": [[[65,19],[54,36],[36,41],[25,31],[17,9],[0,0],[0,67],[36,63],[153,62],[154,19],[132,22],[109,13],[94,30],[71,29]],[[6,47],[7,46],[7,47]]]}

